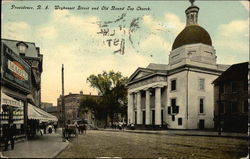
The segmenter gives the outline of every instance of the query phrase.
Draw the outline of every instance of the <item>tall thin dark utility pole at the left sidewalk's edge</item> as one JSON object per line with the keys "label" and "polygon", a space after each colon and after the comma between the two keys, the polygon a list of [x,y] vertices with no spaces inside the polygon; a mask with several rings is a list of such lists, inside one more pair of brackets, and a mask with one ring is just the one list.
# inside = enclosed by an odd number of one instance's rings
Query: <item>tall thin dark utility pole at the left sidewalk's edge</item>
{"label": "tall thin dark utility pole at the left sidewalk's edge", "polygon": [[63,141],[65,141],[65,128],[66,128],[66,116],[65,116],[65,104],[64,104],[64,67],[62,64],[62,96],[61,96],[61,106],[62,106],[62,136]]}

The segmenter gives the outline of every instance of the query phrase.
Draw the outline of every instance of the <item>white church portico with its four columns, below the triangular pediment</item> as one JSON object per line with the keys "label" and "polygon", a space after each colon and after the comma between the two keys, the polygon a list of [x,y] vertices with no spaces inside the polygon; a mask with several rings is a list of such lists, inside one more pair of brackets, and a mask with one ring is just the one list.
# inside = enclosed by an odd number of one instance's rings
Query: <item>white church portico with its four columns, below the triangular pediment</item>
{"label": "white church portico with its four columns, below the triangular pediment", "polygon": [[162,92],[167,82],[154,82],[138,88],[129,89],[128,95],[128,124],[161,125],[163,122]]}

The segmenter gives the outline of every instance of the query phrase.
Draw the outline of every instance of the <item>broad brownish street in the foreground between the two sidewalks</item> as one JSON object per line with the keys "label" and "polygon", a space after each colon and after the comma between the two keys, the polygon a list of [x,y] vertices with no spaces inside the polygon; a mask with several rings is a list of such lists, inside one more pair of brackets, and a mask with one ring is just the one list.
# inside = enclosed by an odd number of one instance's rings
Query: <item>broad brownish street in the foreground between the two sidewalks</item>
{"label": "broad brownish street in the foreground between the two sidewalks", "polygon": [[57,157],[238,159],[247,155],[247,144],[237,138],[90,130],[72,138]]}

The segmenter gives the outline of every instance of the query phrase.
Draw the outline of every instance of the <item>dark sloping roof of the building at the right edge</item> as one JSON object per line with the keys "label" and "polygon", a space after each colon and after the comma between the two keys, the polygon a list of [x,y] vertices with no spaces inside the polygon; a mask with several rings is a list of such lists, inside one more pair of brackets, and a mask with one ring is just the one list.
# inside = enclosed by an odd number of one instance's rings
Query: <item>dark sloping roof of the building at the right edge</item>
{"label": "dark sloping roof of the building at the right edge", "polygon": [[247,80],[248,62],[234,64],[223,72],[213,83]]}

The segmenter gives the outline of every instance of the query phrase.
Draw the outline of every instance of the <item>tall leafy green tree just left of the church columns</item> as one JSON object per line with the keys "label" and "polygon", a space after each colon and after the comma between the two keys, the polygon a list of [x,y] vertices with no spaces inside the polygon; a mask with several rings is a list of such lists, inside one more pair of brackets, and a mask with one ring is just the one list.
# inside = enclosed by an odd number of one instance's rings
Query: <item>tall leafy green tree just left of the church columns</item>
{"label": "tall leafy green tree just left of the church columns", "polygon": [[[87,82],[90,86],[95,88],[99,94],[102,95],[99,109],[103,108],[105,111],[99,110],[104,113],[106,117],[113,122],[114,117],[118,114],[126,116],[127,110],[127,89],[125,83],[127,77],[123,77],[121,72],[103,71],[102,74],[90,75]],[[107,118],[106,118],[107,119]]]}

